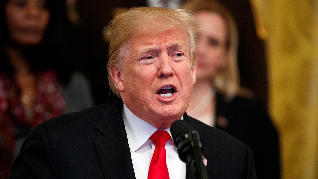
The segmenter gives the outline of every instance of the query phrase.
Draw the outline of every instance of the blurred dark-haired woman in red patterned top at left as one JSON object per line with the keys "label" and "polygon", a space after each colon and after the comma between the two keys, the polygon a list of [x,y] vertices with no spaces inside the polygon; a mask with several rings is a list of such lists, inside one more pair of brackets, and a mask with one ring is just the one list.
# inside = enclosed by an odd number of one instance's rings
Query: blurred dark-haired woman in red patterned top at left
{"label": "blurred dark-haired woman in red patterned top at left", "polygon": [[92,106],[89,83],[74,71],[76,33],[64,3],[0,3],[0,178],[35,125]]}

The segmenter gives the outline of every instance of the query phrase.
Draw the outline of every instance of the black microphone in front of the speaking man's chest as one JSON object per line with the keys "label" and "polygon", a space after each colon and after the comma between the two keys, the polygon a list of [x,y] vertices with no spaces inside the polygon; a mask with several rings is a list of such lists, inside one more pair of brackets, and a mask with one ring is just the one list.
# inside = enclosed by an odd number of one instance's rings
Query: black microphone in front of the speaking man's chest
{"label": "black microphone in front of the speaking man's chest", "polygon": [[170,127],[172,138],[182,161],[190,165],[199,179],[208,179],[206,167],[202,161],[202,144],[197,130],[191,129],[187,121],[177,120]]}

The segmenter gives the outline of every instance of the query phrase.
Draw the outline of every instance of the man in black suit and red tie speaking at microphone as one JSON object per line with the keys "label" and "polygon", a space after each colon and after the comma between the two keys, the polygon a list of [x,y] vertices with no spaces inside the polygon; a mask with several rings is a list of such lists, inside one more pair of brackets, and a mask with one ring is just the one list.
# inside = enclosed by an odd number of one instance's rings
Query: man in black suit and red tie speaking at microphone
{"label": "man in black suit and red tie speaking at microphone", "polygon": [[132,8],[110,26],[107,70],[121,99],[35,127],[11,178],[194,178],[170,137],[179,119],[198,130],[210,178],[256,178],[247,146],[185,114],[196,77],[193,14]]}

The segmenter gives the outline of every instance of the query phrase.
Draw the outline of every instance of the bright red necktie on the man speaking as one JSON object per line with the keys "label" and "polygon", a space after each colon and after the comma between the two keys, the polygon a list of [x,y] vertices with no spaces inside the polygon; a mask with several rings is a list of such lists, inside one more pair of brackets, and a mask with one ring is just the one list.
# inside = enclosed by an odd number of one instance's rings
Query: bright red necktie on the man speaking
{"label": "bright red necktie on the man speaking", "polygon": [[170,135],[167,131],[157,130],[149,139],[156,143],[156,148],[150,162],[148,179],[169,179],[164,146]]}

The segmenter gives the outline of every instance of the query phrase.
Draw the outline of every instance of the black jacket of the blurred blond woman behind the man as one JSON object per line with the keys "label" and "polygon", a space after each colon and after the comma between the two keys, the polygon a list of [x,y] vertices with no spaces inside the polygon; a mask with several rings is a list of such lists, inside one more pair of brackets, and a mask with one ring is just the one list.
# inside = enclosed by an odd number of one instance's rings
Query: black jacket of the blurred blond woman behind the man
{"label": "black jacket of the blurred blond woman behind the man", "polygon": [[259,179],[280,178],[278,134],[266,108],[256,99],[236,96],[226,100],[217,93],[216,128],[252,149]]}

